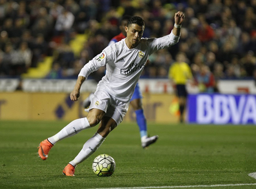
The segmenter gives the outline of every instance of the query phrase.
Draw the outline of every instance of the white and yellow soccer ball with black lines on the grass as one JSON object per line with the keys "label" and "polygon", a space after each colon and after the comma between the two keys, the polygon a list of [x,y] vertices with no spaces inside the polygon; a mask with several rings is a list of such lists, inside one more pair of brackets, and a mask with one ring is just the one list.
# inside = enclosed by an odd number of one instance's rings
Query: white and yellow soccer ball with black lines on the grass
{"label": "white and yellow soccer ball with black lines on the grass", "polygon": [[110,177],[115,170],[115,161],[111,156],[101,154],[94,159],[92,170],[99,177]]}

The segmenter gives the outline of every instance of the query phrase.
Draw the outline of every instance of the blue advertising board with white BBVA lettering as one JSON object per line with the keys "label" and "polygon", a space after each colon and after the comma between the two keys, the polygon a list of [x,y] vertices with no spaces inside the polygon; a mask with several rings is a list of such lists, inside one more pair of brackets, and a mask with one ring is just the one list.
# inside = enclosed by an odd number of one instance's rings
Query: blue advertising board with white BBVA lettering
{"label": "blue advertising board with white BBVA lettering", "polygon": [[190,94],[188,122],[256,124],[256,95]]}

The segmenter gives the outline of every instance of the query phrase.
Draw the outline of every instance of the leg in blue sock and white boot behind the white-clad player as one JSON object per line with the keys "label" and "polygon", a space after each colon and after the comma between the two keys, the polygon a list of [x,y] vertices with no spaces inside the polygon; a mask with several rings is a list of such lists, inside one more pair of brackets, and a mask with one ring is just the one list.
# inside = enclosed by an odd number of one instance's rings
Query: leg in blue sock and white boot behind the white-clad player
{"label": "leg in blue sock and white boot behind the white-clad player", "polygon": [[138,84],[135,87],[130,104],[133,107],[136,114],[136,121],[139,127],[139,133],[141,135],[142,147],[145,148],[150,144],[155,143],[158,139],[158,135],[152,137],[148,137],[147,135],[147,121],[142,107],[142,94],[141,91],[139,90]]}

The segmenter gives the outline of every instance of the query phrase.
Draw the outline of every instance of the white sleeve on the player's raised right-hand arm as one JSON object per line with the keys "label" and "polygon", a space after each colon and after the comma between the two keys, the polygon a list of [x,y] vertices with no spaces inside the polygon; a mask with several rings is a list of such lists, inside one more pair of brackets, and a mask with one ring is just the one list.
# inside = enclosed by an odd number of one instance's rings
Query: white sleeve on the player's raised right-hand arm
{"label": "white sleeve on the player's raised right-hand arm", "polygon": [[154,52],[163,49],[165,47],[169,47],[171,45],[175,45],[176,43],[179,42],[180,36],[176,36],[173,34],[173,32],[171,31],[171,33],[169,35],[163,36],[163,37],[159,37],[159,38],[154,38],[154,39],[149,39],[150,43],[149,43],[149,48],[150,48],[150,52],[149,54],[153,54]]}

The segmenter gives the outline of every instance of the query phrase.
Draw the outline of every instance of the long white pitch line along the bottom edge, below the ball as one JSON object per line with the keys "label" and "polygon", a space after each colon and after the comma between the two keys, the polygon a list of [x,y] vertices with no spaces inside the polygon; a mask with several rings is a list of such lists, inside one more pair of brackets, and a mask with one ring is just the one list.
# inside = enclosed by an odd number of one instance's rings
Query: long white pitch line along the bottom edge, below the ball
{"label": "long white pitch line along the bottom edge, below the ball", "polygon": [[188,187],[220,187],[220,186],[251,186],[256,183],[248,184],[215,184],[215,185],[190,185],[190,186],[146,186],[146,187],[106,187],[90,189],[147,189],[147,188],[188,188]]}

